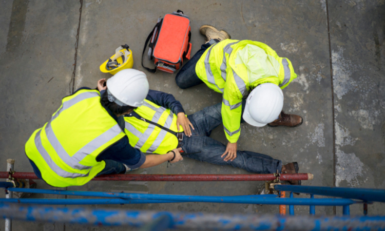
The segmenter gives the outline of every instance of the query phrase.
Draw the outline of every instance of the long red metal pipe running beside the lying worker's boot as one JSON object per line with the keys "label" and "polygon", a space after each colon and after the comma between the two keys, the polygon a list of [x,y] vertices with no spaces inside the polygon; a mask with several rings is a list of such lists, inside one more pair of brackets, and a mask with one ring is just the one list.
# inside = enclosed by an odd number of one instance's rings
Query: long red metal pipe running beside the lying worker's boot
{"label": "long red metal pipe running beside the lying worker's boot", "polygon": [[[38,179],[34,172],[15,172],[18,179]],[[7,171],[0,171],[0,178],[8,178]],[[144,174],[113,174],[95,177],[94,181],[272,181],[273,174],[181,174],[181,175],[144,175]],[[280,180],[312,180],[312,174],[281,174]]]}

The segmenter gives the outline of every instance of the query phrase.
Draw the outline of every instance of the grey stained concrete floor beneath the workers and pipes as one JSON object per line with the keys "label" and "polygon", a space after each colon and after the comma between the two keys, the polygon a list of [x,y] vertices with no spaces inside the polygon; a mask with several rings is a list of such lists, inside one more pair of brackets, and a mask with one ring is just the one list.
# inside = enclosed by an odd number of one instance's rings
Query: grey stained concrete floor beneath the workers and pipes
{"label": "grey stained concrete floor beneath the workers and pipes", "polygon": [[[326,6],[328,4],[328,6]],[[81,9],[81,17],[80,10]],[[239,149],[265,153],[284,163],[297,161],[301,172],[314,174],[304,185],[384,188],[385,181],[385,6],[383,0],[320,1],[27,1],[0,2],[0,163],[16,160],[16,171],[32,171],[24,144],[61,105],[61,99],[82,86],[95,87],[99,70],[119,45],[133,52],[133,68],[141,67],[144,41],[157,18],[181,9],[191,20],[194,54],[204,38],[198,28],[210,24],[238,40],[268,44],[294,65],[298,78],[284,89],[284,110],[302,115],[298,128],[256,128],[242,125]],[[329,32],[329,33],[328,33]],[[79,37],[79,44],[77,39]],[[77,49],[76,48],[76,45]],[[146,62],[150,65],[149,62]],[[146,71],[145,71],[146,72]],[[150,88],[175,95],[191,114],[221,102],[205,85],[182,90],[175,74],[147,73]],[[191,100],[194,99],[194,100]],[[222,129],[211,137],[225,142]],[[245,174],[185,158],[141,174]],[[39,188],[51,188],[37,181]],[[90,182],[73,190],[136,191],[183,195],[255,194],[252,182]],[[49,197],[52,196],[33,196]],[[305,197],[305,195],[301,196]],[[176,203],[93,206],[207,211],[213,213],[278,213],[278,206]],[[296,207],[296,214],[308,214]],[[316,207],[333,215],[332,207]],[[361,214],[353,206],[352,214]],[[337,215],[342,214],[337,208]],[[379,204],[370,215],[384,215]],[[0,230],[4,221],[0,222]],[[123,230],[70,224],[14,222],[14,230]],[[126,229],[125,229],[126,230]]]}

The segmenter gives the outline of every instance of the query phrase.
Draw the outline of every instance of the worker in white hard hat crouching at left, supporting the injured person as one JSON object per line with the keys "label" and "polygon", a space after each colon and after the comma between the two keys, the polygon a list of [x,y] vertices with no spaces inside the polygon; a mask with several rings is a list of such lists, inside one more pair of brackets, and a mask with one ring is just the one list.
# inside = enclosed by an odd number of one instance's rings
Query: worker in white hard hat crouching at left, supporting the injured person
{"label": "worker in white hard hat crouching at left, supporting the injured person", "polygon": [[129,144],[120,127],[124,125],[121,115],[144,103],[145,73],[125,69],[112,76],[107,86],[104,83],[102,79],[97,89],[83,87],[63,98],[51,120],[27,141],[25,152],[33,170],[49,185],[83,185],[98,175],[182,160],[177,148],[165,155],[145,156]]}

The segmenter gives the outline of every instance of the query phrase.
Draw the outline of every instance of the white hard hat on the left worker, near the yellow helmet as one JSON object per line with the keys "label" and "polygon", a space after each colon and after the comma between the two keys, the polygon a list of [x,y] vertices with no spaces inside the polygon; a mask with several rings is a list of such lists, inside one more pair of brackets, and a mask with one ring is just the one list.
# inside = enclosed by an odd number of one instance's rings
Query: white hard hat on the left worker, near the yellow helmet
{"label": "white hard hat on the left worker, near the yellow helmet", "polygon": [[146,74],[135,69],[121,70],[107,80],[108,100],[119,106],[142,106],[148,89]]}

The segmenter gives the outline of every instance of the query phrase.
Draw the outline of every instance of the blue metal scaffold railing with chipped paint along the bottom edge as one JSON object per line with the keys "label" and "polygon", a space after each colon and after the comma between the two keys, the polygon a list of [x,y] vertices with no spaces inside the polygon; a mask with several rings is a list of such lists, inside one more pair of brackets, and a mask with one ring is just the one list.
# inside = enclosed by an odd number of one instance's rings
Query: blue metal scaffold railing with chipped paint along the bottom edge
{"label": "blue metal scaffold railing with chipped paint along the bottom edge", "polygon": [[[79,224],[102,225],[133,225],[143,226],[145,230],[165,230],[167,228],[206,228],[211,225],[215,229],[251,230],[385,230],[385,217],[349,217],[350,205],[361,203],[364,215],[367,214],[367,204],[385,202],[385,190],[363,188],[339,188],[318,186],[274,185],[277,191],[290,192],[289,198],[277,195],[242,195],[242,196],[186,196],[160,194],[128,194],[98,191],[70,191],[34,188],[13,188],[10,182],[0,182],[12,192],[38,194],[55,194],[84,197],[102,197],[85,199],[0,199],[0,214],[4,218],[60,221]],[[310,198],[294,198],[293,192],[310,194]],[[315,195],[341,198],[315,198]],[[256,215],[203,215],[175,214],[153,211],[124,211],[84,208],[52,208],[47,206],[28,206],[21,204],[43,205],[85,205],[85,204],[143,204],[143,203],[180,203],[180,202],[210,202],[210,203],[241,203],[241,204],[271,204],[289,205],[292,216],[256,216]],[[17,205],[16,205],[17,203]],[[315,215],[315,206],[342,206],[344,217],[301,217],[294,215],[294,205],[309,206],[310,215]],[[84,213],[80,214],[80,211]],[[56,214],[56,215],[55,215]],[[54,216],[55,215],[55,216]],[[119,219],[118,219],[119,217]],[[124,219],[128,221],[122,221]],[[107,219],[108,218],[108,219]],[[123,219],[124,218],[124,219]],[[208,219],[210,218],[210,219]],[[202,223],[203,222],[203,223]],[[277,223],[274,223],[277,222]],[[200,225],[200,223],[206,226]],[[194,224],[191,226],[191,224]],[[278,226],[277,226],[278,224]],[[163,228],[163,229],[162,229]]]}

